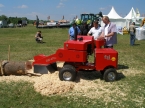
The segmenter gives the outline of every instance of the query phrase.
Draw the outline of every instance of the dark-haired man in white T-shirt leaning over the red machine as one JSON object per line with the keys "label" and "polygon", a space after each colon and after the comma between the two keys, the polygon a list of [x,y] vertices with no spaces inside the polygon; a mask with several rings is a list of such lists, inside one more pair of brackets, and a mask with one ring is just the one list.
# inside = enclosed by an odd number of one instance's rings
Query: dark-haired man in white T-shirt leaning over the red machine
{"label": "dark-haired man in white T-shirt leaning over the red machine", "polygon": [[93,22],[93,26],[89,32],[88,32],[88,36],[93,36],[94,40],[97,40],[97,38],[101,35],[102,33],[102,28],[99,26],[98,21],[94,21]]}

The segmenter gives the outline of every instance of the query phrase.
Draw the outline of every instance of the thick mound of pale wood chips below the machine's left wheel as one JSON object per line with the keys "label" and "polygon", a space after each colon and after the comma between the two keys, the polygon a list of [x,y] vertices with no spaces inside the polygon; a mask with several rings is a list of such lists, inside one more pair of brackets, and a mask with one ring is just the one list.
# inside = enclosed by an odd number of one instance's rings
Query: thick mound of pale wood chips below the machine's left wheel
{"label": "thick mound of pale wood chips below the machine's left wheel", "polygon": [[62,94],[74,88],[72,82],[60,81],[58,73],[42,75],[33,79],[34,88],[43,95]]}

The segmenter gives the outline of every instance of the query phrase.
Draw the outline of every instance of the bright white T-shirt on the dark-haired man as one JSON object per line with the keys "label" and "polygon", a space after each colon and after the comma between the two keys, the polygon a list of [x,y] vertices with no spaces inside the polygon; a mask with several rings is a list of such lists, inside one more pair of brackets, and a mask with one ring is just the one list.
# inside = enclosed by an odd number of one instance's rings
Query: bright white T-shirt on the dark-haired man
{"label": "bright white T-shirt on the dark-haired man", "polygon": [[92,36],[94,37],[94,39],[97,40],[97,38],[102,33],[102,28],[101,27],[98,27],[98,28],[92,27],[88,33],[89,34],[92,34]]}

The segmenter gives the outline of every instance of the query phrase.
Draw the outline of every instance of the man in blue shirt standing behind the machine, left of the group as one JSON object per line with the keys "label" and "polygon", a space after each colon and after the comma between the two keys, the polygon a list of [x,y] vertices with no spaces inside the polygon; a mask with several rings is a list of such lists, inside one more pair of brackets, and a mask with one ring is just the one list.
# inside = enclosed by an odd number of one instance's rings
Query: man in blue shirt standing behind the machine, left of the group
{"label": "man in blue shirt standing behind the machine, left of the group", "polygon": [[72,24],[72,27],[70,27],[68,33],[69,33],[69,39],[70,40],[75,40],[76,39],[76,36],[78,34],[80,34],[80,29],[78,28],[78,26],[76,25],[76,23],[73,23]]}

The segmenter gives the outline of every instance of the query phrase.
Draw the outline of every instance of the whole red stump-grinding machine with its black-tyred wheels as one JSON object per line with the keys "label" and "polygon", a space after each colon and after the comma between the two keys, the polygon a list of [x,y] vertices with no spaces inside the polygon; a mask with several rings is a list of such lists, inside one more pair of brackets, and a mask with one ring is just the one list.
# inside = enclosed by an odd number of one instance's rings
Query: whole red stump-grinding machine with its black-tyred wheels
{"label": "whole red stump-grinding machine with its black-tyred wheels", "polygon": [[[105,81],[115,81],[118,52],[111,48],[102,48],[104,44],[104,40],[94,41],[92,36],[77,36],[76,40],[64,42],[64,48],[58,49],[53,55],[35,56],[34,70],[39,65],[53,65],[57,68],[54,65],[56,61],[63,61],[64,65],[59,71],[60,80],[74,81],[79,70],[96,70],[101,72]],[[94,54],[94,63],[89,63],[88,56],[92,54]]]}

